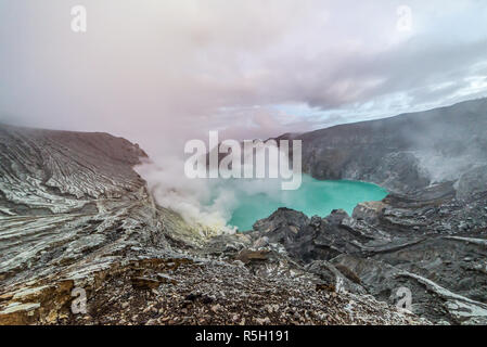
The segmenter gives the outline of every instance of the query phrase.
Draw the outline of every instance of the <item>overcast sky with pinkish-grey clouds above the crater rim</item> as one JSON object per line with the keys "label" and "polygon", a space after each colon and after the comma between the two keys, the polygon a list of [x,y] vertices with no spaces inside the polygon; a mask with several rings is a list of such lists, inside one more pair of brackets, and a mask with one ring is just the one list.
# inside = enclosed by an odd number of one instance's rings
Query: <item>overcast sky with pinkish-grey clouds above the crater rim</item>
{"label": "overcast sky with pinkish-grey clouds above the crater rim", "polygon": [[152,155],[486,95],[485,0],[0,0],[0,121]]}

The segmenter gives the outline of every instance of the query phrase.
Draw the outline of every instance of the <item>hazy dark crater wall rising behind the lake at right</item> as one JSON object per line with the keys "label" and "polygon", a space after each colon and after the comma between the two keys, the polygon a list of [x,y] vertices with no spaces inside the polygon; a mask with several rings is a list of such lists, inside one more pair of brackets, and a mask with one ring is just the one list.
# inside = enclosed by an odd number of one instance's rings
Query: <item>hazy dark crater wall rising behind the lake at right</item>
{"label": "hazy dark crater wall rising behind the lake at right", "polygon": [[315,178],[362,180],[407,193],[486,165],[485,133],[487,99],[292,138],[303,141],[303,168]]}

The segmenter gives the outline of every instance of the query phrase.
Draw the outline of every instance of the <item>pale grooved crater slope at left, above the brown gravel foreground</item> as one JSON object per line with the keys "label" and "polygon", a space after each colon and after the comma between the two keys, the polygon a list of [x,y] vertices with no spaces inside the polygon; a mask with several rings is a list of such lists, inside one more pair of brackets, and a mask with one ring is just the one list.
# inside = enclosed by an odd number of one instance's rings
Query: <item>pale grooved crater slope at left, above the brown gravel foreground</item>
{"label": "pale grooved crater slope at left, above the brown gravel foreground", "polygon": [[101,273],[179,239],[197,242],[154,204],[133,170],[145,158],[106,133],[0,128],[0,322],[54,322],[72,288],[91,291]]}

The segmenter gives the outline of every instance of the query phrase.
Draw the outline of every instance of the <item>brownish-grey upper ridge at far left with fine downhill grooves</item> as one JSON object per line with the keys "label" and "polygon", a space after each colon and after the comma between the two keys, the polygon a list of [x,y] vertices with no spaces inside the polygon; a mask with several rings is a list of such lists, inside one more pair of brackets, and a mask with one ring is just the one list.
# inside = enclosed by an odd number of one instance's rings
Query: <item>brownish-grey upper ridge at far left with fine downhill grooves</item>
{"label": "brownish-grey upper ridge at far left with fine downhill grooves", "polygon": [[138,194],[144,181],[131,167],[142,158],[138,145],[107,133],[2,126],[0,214],[71,213],[98,198]]}

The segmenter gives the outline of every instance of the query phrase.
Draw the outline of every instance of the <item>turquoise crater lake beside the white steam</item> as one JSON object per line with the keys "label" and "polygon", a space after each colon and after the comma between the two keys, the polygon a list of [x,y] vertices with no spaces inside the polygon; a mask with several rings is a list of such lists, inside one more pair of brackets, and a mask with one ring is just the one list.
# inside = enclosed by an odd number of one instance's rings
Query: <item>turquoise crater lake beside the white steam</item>
{"label": "turquoise crater lake beside the white steam", "polygon": [[303,184],[296,191],[275,190],[269,194],[240,190],[239,205],[233,210],[229,224],[236,227],[239,231],[252,230],[257,220],[269,217],[280,207],[299,210],[308,217],[326,217],[338,208],[351,215],[357,204],[381,201],[386,195],[385,189],[372,183],[319,181],[305,175]]}

